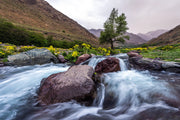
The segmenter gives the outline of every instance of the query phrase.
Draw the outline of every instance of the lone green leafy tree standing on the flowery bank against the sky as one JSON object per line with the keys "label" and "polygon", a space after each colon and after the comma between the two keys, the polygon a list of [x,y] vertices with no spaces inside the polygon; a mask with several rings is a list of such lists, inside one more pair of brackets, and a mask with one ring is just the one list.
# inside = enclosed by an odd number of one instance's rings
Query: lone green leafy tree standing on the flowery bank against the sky
{"label": "lone green leafy tree standing on the flowery bank against the sky", "polygon": [[118,16],[118,10],[113,8],[109,18],[104,23],[104,31],[101,32],[99,38],[100,43],[110,43],[111,49],[114,49],[114,42],[124,43],[125,39],[129,40],[129,36],[125,35],[127,30],[125,14],[122,13]]}

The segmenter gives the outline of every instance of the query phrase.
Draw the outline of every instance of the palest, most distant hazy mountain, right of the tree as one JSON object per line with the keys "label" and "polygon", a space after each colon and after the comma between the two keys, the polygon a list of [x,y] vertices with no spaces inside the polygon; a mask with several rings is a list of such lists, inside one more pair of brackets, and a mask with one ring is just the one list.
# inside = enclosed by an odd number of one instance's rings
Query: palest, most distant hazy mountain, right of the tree
{"label": "palest, most distant hazy mountain, right of the tree", "polygon": [[161,29],[161,30],[150,31],[150,32],[145,33],[145,34],[143,34],[143,33],[138,33],[137,35],[138,35],[139,37],[143,38],[144,40],[149,41],[149,40],[151,40],[151,39],[153,39],[153,38],[157,38],[158,36],[160,36],[161,34],[167,32],[167,31],[168,31],[168,30],[163,30],[163,29]]}

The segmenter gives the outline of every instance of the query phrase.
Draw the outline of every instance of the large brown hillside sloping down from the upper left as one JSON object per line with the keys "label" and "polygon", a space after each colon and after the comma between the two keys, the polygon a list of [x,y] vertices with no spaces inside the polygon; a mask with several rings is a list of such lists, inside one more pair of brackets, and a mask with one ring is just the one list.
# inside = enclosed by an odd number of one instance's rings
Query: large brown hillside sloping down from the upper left
{"label": "large brown hillside sloping down from the upper left", "polygon": [[0,0],[0,16],[30,31],[58,40],[80,40],[97,45],[97,38],[44,0]]}

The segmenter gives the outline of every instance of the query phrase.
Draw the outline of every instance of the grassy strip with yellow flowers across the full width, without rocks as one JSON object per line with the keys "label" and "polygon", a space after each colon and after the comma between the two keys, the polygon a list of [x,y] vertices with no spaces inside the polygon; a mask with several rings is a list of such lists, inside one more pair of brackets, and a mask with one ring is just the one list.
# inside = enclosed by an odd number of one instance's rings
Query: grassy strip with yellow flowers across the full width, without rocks
{"label": "grassy strip with yellow flowers across the full width, without rocks", "polygon": [[75,62],[77,57],[88,53],[95,55],[110,55],[110,54],[118,54],[118,53],[127,53],[129,51],[138,51],[145,58],[158,58],[165,61],[176,61],[180,62],[180,45],[166,45],[166,46],[154,46],[154,47],[137,47],[137,48],[123,48],[123,49],[115,49],[111,50],[110,48],[94,48],[89,44],[82,43],[76,44],[72,48],[63,49],[56,48],[50,45],[49,47],[36,47],[36,46],[16,46],[12,44],[3,44],[0,42],[0,58],[4,59],[8,55],[17,54],[20,52],[25,52],[31,49],[40,49],[47,48],[54,55],[63,55],[66,59],[71,62]]}

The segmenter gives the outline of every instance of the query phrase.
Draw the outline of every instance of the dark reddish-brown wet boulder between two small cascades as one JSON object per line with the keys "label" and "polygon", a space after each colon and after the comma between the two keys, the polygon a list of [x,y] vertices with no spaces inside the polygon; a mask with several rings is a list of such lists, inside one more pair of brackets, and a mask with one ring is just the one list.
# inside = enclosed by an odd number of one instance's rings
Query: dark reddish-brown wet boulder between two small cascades
{"label": "dark reddish-brown wet boulder between two small cascades", "polygon": [[119,60],[115,57],[109,57],[99,62],[95,67],[96,73],[108,73],[120,71]]}

